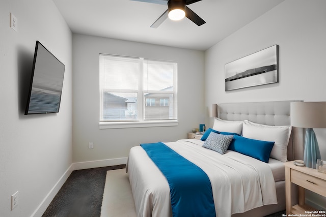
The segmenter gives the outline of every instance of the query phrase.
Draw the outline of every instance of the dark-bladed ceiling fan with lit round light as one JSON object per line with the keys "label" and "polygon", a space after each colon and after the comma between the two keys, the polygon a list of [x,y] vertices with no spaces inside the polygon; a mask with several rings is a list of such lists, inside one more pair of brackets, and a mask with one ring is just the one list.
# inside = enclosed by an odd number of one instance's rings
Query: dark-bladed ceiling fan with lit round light
{"label": "dark-bladed ceiling fan with lit round light", "polygon": [[189,20],[196,23],[198,26],[206,23],[195,12],[187,7],[187,5],[199,2],[201,0],[131,0],[137,2],[147,2],[160,5],[168,5],[168,9],[160,15],[157,20],[151,25],[152,28],[157,28],[168,17],[172,20],[180,20],[187,17]]}

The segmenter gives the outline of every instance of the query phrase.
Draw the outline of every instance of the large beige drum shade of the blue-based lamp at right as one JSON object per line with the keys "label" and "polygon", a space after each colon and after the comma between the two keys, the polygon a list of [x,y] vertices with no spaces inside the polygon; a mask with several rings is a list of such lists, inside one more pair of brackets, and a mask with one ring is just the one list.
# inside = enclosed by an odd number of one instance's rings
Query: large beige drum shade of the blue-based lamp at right
{"label": "large beige drum shade of the blue-based lamp at right", "polygon": [[292,102],[291,126],[326,128],[326,102]]}

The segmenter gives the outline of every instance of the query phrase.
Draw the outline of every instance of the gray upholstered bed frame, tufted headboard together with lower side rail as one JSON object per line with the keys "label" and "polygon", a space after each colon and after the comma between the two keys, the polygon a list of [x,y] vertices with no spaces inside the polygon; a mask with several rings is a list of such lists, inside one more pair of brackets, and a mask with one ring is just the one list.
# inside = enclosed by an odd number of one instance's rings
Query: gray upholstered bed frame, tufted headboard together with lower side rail
{"label": "gray upholstered bed frame, tufted headboard together with lower side rail", "polygon": [[[291,102],[297,101],[223,103],[218,104],[217,114],[223,120],[250,120],[263,125],[284,126],[290,125]],[[303,160],[303,153],[304,129],[292,127],[287,148],[287,159],[289,161]],[[232,216],[265,216],[285,210],[285,181],[279,181],[275,184],[278,204],[258,207]],[[295,197],[292,199],[295,201]]]}

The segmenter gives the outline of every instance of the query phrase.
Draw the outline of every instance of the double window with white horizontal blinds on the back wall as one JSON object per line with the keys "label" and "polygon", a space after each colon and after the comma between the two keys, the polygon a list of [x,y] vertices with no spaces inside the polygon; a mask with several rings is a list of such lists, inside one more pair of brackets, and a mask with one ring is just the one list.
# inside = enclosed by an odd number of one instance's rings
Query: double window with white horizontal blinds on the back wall
{"label": "double window with white horizontal blinds on the back wall", "polygon": [[177,120],[177,63],[100,54],[100,125]]}

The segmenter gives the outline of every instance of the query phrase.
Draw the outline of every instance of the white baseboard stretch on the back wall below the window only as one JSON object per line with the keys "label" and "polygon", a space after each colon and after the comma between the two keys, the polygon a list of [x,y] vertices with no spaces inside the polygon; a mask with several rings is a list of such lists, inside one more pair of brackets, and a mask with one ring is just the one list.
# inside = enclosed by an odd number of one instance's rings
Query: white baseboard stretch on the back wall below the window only
{"label": "white baseboard stretch on the back wall below the window only", "polygon": [[99,161],[86,161],[86,162],[77,162],[73,163],[73,170],[82,170],[89,168],[97,168],[97,167],[107,167],[114,165],[126,164],[127,158],[116,158],[116,159],[106,159]]}

